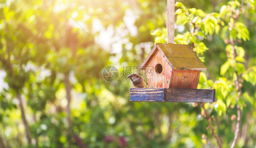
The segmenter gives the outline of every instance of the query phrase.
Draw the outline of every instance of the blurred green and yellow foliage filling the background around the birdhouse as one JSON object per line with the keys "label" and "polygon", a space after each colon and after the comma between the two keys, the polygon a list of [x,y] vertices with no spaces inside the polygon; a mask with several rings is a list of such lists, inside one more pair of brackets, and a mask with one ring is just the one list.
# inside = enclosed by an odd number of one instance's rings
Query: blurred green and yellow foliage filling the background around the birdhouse
{"label": "blurred green and yellow foliage filling the background around the birdhouse", "polygon": [[[234,139],[238,106],[236,147],[256,144],[255,5],[175,3],[174,42],[191,45],[208,68],[198,88],[216,90],[216,102],[204,107],[223,147]],[[217,146],[202,104],[129,102],[122,67],[139,66],[154,43],[167,42],[165,21],[166,0],[1,1],[0,85],[8,87],[0,87],[0,141],[10,148],[200,148],[207,137]],[[102,78],[109,65],[118,67],[115,82]]]}

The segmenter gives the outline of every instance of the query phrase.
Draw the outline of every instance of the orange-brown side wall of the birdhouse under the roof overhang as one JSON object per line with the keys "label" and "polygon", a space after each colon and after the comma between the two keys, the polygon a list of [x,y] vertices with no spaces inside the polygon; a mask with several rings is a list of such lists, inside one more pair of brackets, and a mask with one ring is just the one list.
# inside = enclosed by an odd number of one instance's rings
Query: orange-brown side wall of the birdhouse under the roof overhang
{"label": "orange-brown side wall of the birdhouse under the roof overhang", "polygon": [[174,69],[171,75],[170,88],[197,89],[200,71]]}

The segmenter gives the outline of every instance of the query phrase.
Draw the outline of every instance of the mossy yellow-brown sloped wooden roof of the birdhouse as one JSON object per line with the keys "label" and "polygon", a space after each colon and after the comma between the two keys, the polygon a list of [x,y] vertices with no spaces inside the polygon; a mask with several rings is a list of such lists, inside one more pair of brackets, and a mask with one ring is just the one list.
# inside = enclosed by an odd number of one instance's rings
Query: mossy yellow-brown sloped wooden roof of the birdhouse
{"label": "mossy yellow-brown sloped wooden roof of the birdhouse", "polygon": [[156,43],[148,57],[143,61],[140,67],[142,70],[145,70],[144,67],[157,50],[173,69],[199,71],[207,69],[189,45]]}

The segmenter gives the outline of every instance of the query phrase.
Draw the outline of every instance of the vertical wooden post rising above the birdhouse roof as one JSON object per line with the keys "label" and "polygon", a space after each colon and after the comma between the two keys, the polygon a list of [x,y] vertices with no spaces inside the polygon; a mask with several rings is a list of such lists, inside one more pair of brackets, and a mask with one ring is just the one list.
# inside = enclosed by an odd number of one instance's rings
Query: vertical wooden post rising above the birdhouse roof
{"label": "vertical wooden post rising above the birdhouse roof", "polygon": [[174,44],[174,7],[175,0],[167,0],[167,43]]}

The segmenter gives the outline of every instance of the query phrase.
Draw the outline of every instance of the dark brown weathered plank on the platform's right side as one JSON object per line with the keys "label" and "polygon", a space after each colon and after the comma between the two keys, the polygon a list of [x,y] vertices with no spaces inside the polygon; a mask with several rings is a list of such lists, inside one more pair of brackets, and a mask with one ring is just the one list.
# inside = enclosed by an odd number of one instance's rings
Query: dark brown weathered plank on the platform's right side
{"label": "dark brown weathered plank on the platform's right side", "polygon": [[215,102],[215,89],[166,89],[166,102]]}

